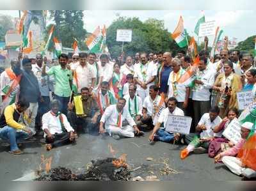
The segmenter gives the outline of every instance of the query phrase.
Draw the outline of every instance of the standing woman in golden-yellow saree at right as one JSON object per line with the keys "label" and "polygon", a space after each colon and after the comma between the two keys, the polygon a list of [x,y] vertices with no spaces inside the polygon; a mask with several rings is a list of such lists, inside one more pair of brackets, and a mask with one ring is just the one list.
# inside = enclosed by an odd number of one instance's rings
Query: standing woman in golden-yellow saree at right
{"label": "standing woman in golden-yellow saree at right", "polygon": [[236,93],[241,91],[241,77],[234,73],[233,63],[223,63],[224,72],[220,73],[215,80],[212,89],[216,91],[216,103],[220,107],[220,117],[224,118],[230,108],[238,108]]}

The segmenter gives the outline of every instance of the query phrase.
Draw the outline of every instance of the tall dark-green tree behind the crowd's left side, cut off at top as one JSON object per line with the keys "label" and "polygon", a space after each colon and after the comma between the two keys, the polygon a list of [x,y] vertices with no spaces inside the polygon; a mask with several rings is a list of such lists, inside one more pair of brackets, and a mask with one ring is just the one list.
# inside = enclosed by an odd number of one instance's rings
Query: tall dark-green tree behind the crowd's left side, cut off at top
{"label": "tall dark-green tree behind the crowd's left side, cut off at top", "polygon": [[[84,29],[83,23],[83,11],[76,10],[54,10],[50,11],[50,18],[54,20],[56,27],[54,29],[54,35],[61,41],[63,47],[72,47],[74,38],[78,42],[79,49],[87,49],[84,40],[86,37],[86,29]],[[47,33],[51,26],[47,26]],[[48,34],[45,35],[45,40],[48,38]],[[49,47],[52,49],[52,44]]]}

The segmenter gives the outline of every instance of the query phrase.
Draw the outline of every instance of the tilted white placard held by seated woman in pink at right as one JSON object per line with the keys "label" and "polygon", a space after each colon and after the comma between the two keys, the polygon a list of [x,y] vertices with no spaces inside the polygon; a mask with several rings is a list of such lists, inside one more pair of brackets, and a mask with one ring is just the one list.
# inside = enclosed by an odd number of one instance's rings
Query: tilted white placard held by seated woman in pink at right
{"label": "tilted white placard held by seated woman in pink at right", "polygon": [[224,130],[223,134],[229,141],[232,141],[234,144],[241,139],[241,123],[238,119],[233,119]]}

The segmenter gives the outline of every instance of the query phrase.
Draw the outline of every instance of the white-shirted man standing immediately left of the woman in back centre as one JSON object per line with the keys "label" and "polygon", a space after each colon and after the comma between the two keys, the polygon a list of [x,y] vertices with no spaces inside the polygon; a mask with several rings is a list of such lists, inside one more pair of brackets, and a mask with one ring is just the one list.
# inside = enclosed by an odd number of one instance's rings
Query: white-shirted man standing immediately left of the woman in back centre
{"label": "white-shirted man standing immediately left of the woman in back centre", "polygon": [[108,55],[100,55],[100,83],[109,82],[113,75],[113,65],[108,63]]}

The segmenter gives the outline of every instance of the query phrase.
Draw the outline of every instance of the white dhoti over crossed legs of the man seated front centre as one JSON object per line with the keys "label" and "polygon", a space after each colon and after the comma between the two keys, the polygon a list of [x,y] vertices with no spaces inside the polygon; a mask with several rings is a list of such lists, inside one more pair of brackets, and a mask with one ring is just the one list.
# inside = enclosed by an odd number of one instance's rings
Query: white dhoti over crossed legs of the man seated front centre
{"label": "white dhoti over crossed legs of the man seated front centre", "polygon": [[115,125],[108,125],[106,126],[106,130],[110,136],[112,134],[118,134],[124,137],[134,137],[134,129],[131,125],[122,126],[122,128]]}

